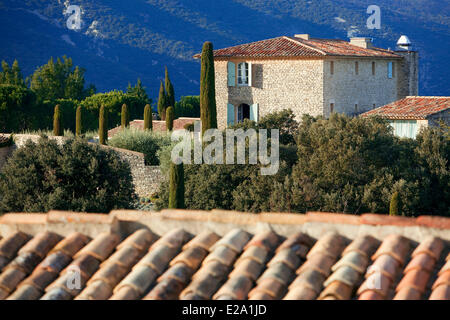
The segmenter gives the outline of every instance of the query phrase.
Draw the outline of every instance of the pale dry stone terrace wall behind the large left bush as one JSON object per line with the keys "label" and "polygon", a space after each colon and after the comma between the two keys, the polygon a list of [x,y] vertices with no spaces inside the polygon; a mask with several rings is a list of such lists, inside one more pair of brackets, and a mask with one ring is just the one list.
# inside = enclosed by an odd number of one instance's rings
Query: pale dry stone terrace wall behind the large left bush
{"label": "pale dry stone terrace wall behind the large left bush", "polygon": [[[8,136],[8,135],[7,135]],[[17,134],[14,135],[14,146],[7,148],[0,148],[0,170],[6,163],[6,160],[11,156],[12,152],[16,148],[23,147],[28,140],[38,142],[40,136]],[[64,137],[49,137],[52,140],[56,140],[58,144],[61,144]],[[134,152],[125,149],[112,148],[108,146],[102,146],[108,150],[114,150],[117,154],[128,164],[131,168],[131,174],[133,176],[133,183],[135,186],[136,194],[141,197],[149,197],[155,192],[159,191],[159,186],[163,180],[163,175],[159,166],[146,166],[145,157],[143,153]]]}

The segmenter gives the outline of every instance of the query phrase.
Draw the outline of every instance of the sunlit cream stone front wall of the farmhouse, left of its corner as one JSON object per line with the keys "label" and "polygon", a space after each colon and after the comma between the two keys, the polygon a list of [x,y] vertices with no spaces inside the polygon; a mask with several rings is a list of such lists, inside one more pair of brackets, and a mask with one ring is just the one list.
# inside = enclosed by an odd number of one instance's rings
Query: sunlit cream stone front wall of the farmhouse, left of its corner
{"label": "sunlit cream stone front wall of the farmhouse, left of its corner", "polygon": [[[242,60],[231,60],[234,63]],[[323,60],[245,60],[252,64],[252,87],[228,87],[228,61],[215,61],[217,122],[227,126],[227,105],[259,105],[259,118],[291,108],[298,119],[323,114]]]}

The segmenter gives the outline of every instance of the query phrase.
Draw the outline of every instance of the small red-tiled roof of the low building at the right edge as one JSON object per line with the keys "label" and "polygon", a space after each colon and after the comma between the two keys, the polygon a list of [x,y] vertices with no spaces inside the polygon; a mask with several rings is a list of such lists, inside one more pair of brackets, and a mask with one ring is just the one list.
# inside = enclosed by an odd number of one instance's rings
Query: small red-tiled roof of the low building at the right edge
{"label": "small red-tiled roof of the low building at the right edge", "polygon": [[450,97],[406,97],[383,107],[363,113],[362,117],[380,116],[386,119],[427,119],[450,109]]}

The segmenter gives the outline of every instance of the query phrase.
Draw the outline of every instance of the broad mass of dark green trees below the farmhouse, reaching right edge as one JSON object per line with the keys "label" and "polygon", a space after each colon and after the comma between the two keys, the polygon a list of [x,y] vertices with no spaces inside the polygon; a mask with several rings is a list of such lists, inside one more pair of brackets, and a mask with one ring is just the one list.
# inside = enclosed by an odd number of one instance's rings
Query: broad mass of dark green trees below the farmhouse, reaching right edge
{"label": "broad mass of dark green trees below the farmhouse, reaching right edge", "polygon": [[[329,120],[304,116],[298,124],[289,112],[283,114],[264,120],[269,128],[298,126],[282,135],[288,144],[280,145],[276,175],[261,176],[258,165],[185,165],[186,207],[388,213],[398,192],[402,215],[450,216],[450,146],[444,130],[428,128],[417,140],[399,139],[381,119],[334,114]],[[158,206],[167,207],[167,184],[160,198]]]}

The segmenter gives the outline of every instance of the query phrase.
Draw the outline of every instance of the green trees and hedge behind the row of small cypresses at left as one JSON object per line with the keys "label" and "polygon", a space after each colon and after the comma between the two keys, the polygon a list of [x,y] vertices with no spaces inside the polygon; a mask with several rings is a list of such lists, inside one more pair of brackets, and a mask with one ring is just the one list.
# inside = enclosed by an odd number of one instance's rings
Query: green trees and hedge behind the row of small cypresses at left
{"label": "green trees and hedge behind the row of small cypresses at left", "polygon": [[127,92],[114,90],[94,94],[84,88],[84,70],[73,67],[69,58],[39,67],[34,73],[30,89],[25,85],[17,62],[10,68],[4,62],[0,72],[0,131],[22,132],[52,128],[53,111],[60,105],[62,126],[76,131],[76,110],[83,107],[83,130],[98,129],[100,106],[108,110],[108,127],[121,123],[121,108],[128,106],[129,119],[140,119],[146,104],[151,104],[140,80]]}

